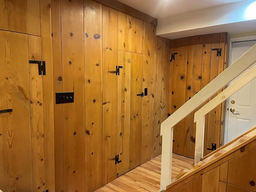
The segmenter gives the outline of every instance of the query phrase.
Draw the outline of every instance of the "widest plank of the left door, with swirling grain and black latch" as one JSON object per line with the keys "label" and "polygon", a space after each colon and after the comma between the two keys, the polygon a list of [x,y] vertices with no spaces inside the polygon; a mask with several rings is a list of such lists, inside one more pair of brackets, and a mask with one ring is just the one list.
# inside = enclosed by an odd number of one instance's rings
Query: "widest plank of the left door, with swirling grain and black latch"
{"label": "widest plank of the left door, with swirling grain and black latch", "polygon": [[28,36],[0,30],[0,188],[32,192]]}

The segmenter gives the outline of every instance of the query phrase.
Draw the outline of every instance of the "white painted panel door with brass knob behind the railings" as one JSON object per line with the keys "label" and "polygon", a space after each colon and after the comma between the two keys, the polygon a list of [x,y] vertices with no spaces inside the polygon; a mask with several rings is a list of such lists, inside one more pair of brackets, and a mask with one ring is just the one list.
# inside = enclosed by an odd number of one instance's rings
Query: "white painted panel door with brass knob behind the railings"
{"label": "white painted panel door with brass knob behind the railings", "polygon": [[[242,56],[242,54],[254,44],[256,44],[256,40],[233,42],[231,63]],[[252,66],[250,68],[252,68]],[[232,82],[230,84],[232,84]],[[230,96],[228,102],[227,142],[230,142],[250,128],[256,126],[256,78]],[[230,111],[232,109],[234,109],[234,112]]]}

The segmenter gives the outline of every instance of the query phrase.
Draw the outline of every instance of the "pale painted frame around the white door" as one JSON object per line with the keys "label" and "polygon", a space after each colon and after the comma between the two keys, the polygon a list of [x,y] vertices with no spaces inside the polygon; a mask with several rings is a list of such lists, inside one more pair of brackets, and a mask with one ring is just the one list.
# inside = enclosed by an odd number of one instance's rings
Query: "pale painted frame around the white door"
{"label": "pale painted frame around the white door", "polygon": [[[228,60],[228,66],[231,65],[232,43],[233,43],[233,42],[242,42],[242,41],[252,41],[252,40],[256,40],[256,35],[254,35],[254,36],[242,36],[242,37],[230,38],[230,42],[229,42],[229,60]],[[228,84],[228,86],[229,86],[229,85],[230,85],[230,84]],[[227,143],[227,140],[228,140],[228,108],[229,108],[229,98],[227,98],[227,100],[226,100],[224,144],[226,144],[226,143]]]}

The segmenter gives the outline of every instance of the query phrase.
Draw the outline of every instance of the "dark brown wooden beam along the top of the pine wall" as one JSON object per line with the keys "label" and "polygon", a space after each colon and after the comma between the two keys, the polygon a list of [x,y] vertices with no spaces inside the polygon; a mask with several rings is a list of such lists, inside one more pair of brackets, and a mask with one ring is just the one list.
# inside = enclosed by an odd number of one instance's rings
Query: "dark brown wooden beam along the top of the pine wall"
{"label": "dark brown wooden beam along the top of the pine wall", "polygon": [[122,11],[128,15],[134,16],[136,18],[139,18],[141,20],[144,20],[150,24],[154,24],[155,26],[157,26],[157,19],[146,14],[143,13],[139,10],[136,10],[126,4],[123,4],[117,0],[95,0],[96,2],[102,3],[104,5],[110,6],[116,10]]}

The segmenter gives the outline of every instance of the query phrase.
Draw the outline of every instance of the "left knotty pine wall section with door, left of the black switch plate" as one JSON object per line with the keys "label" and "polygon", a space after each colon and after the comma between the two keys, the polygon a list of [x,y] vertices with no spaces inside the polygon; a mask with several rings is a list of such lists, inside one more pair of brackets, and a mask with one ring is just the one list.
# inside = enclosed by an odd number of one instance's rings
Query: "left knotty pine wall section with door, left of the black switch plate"
{"label": "left knotty pine wall section with door, left of the black switch plate", "polygon": [[[54,191],[49,5],[50,0],[0,0],[0,110],[13,109],[0,117],[3,191]],[[29,60],[44,60],[46,75],[40,76],[38,65],[29,64]]]}

